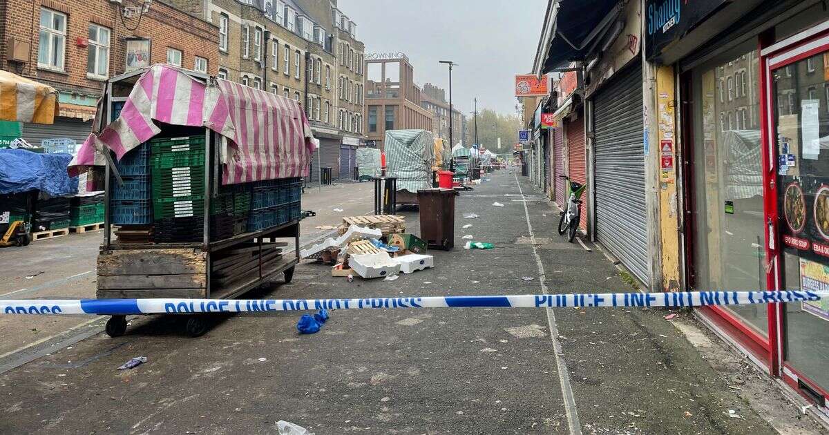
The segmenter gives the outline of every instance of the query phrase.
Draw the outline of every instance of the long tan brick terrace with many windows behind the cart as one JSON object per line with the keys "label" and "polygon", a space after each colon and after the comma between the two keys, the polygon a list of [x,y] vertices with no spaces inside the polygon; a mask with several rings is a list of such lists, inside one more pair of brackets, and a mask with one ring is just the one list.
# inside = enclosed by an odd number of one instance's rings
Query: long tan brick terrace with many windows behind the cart
{"label": "long tan brick terrace with many windows behind the cart", "polygon": [[[351,153],[341,154],[341,148],[358,144],[359,134],[340,113],[346,110],[353,118],[362,109],[340,98],[349,87],[338,80],[342,66],[337,47],[342,32],[336,29],[344,16],[337,11],[336,2],[169,1],[219,28],[220,77],[296,99],[303,105],[314,136],[320,140],[312,161],[313,181],[318,180],[321,167],[331,167],[334,178],[351,176]],[[347,19],[345,23],[349,23]],[[362,47],[356,40],[352,46]],[[342,156],[346,157],[344,163]]]}

